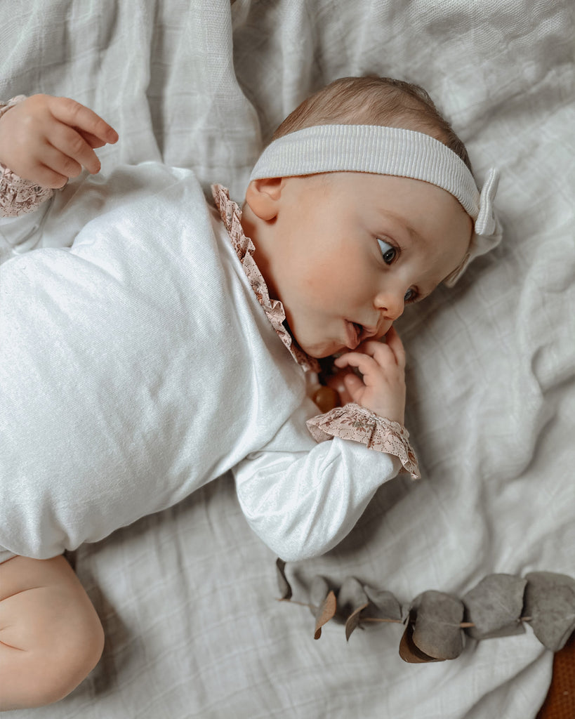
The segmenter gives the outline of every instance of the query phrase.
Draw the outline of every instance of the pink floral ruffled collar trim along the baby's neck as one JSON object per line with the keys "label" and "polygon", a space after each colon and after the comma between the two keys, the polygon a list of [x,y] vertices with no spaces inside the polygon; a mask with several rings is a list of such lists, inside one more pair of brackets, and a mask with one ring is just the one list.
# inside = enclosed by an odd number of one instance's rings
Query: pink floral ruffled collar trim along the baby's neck
{"label": "pink floral ruffled collar trim along the baby's neck", "polygon": [[285,344],[285,347],[289,349],[293,359],[298,362],[298,365],[306,372],[318,372],[319,365],[316,359],[305,354],[303,349],[298,347],[293,336],[285,329],[283,324],[285,321],[285,311],[282,303],[280,300],[270,299],[265,280],[253,257],[256,248],[252,240],[246,237],[242,229],[242,209],[240,209],[236,202],[230,200],[229,191],[225,187],[212,185],[211,191],[213,199],[216,202],[216,207],[231,239],[231,244],[234,246],[240,262],[242,262],[244,272],[247,275],[250,285],[252,285],[252,290],[254,290],[259,304],[266,313],[267,319],[270,320],[272,327],[277,332],[283,344]]}

